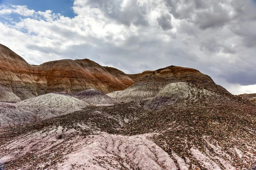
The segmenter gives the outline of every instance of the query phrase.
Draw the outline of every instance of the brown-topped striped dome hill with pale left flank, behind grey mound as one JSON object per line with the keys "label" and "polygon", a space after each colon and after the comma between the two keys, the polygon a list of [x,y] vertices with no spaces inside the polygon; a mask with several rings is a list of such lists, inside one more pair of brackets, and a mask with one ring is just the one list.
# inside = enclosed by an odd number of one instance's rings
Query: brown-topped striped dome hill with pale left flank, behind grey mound
{"label": "brown-topped striped dome hill with pale left flank, behind grey mound", "polygon": [[107,95],[120,102],[148,99],[156,96],[166,85],[174,82],[192,83],[207,87],[213,91],[229,94],[226,89],[216,85],[211,77],[202,74],[198,70],[169,66],[156,71],[144,71],[129,88],[124,91],[114,91]]}

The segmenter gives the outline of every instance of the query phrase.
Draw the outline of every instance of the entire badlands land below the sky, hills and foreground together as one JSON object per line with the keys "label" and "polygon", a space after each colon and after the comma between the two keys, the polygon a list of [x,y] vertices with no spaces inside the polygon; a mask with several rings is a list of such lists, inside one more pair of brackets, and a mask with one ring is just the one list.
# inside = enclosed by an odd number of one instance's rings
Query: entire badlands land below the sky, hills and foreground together
{"label": "entire badlands land below the sky, hills and foreground together", "polygon": [[255,99],[192,68],[30,65],[0,45],[0,170],[255,170]]}

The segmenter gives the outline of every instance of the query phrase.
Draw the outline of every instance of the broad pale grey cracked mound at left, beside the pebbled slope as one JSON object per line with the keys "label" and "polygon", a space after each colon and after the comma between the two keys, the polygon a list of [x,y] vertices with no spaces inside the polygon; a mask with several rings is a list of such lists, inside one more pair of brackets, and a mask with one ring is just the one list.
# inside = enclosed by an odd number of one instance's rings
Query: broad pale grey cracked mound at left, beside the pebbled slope
{"label": "broad pale grey cracked mound at left, beside the pebbled slope", "polygon": [[45,94],[8,104],[0,102],[0,126],[20,125],[79,111],[88,104],[70,96]]}

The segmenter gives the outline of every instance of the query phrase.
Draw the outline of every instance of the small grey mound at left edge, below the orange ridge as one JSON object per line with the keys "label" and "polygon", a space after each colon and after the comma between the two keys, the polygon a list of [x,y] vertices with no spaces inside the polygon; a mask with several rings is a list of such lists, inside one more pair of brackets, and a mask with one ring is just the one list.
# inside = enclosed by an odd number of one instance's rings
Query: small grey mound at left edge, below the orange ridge
{"label": "small grey mound at left edge, below the orange ridge", "polygon": [[16,103],[20,101],[21,99],[16,94],[3,85],[0,85],[0,102]]}

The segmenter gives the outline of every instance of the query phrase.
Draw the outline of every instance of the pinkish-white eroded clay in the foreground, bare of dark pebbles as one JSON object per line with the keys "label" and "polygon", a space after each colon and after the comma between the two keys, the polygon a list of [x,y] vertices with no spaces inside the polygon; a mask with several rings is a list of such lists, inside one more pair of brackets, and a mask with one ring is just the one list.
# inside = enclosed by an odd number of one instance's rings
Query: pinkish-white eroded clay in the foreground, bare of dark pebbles
{"label": "pinkish-white eroded clay in the foreground, bare of dark pebbles", "polygon": [[[191,147],[190,158],[182,158],[175,152],[172,152],[172,157],[169,156],[161,147],[148,140],[152,134],[122,136],[98,133],[86,137],[80,134],[78,130],[68,130],[59,126],[20,136],[4,145],[6,150],[5,154],[0,156],[0,165],[38,150],[35,152],[38,158],[51,153],[49,159],[52,160],[58,152],[61,152],[64,156],[63,161],[52,164],[52,169],[58,170],[120,170],[124,167],[127,170],[189,170],[198,169],[198,164],[206,170],[236,170],[230,161],[235,159],[239,149],[230,148],[233,155],[229,155],[223,147],[215,143],[215,140],[211,141],[207,136],[205,136],[206,146],[212,150],[203,153],[202,149]],[[51,148],[55,149],[51,150]],[[256,150],[252,149],[253,151]],[[241,152],[245,164],[247,164],[246,154],[248,153]],[[254,154],[250,154],[255,158]],[[197,164],[194,164],[195,162]],[[25,168],[29,166],[29,162],[25,161],[21,166],[20,168]],[[36,169],[45,169],[47,164],[39,163],[36,167]]]}

